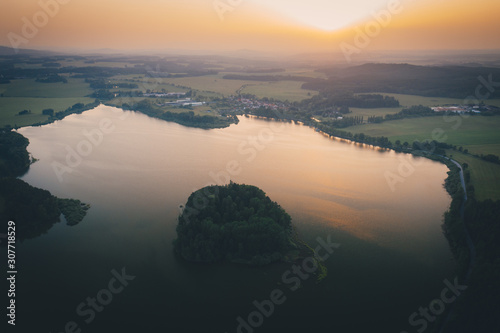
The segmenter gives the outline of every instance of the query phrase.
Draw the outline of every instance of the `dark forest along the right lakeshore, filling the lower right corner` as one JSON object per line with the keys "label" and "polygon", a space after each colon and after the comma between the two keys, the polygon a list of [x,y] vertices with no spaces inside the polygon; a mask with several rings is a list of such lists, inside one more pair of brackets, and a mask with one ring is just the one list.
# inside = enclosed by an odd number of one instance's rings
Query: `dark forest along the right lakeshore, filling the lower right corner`
{"label": "dark forest along the right lakeshore, filling the lower right corner", "polygon": [[[455,165],[448,166],[450,172],[445,186],[452,203],[444,216],[443,231],[458,261],[461,281],[468,288],[463,297],[458,298],[444,332],[499,332],[500,201],[477,201],[474,187],[468,184],[468,167],[463,165],[468,198],[464,204],[459,170]],[[474,253],[467,245],[466,229]]]}

